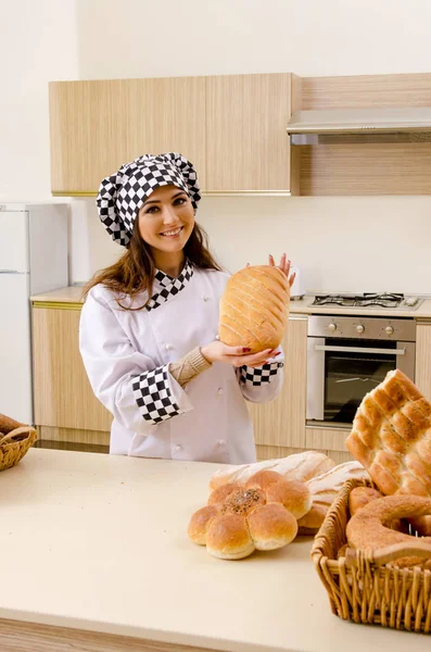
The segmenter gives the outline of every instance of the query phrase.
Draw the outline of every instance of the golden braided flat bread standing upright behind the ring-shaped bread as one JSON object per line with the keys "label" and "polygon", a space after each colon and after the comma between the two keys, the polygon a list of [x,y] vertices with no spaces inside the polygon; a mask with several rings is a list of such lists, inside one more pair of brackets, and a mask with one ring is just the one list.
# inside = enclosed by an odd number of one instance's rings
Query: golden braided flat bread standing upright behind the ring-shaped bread
{"label": "golden braided flat bread standing upright behind the ring-shaped bread", "polygon": [[431,496],[431,404],[400,369],[365,396],[346,439],[385,496]]}

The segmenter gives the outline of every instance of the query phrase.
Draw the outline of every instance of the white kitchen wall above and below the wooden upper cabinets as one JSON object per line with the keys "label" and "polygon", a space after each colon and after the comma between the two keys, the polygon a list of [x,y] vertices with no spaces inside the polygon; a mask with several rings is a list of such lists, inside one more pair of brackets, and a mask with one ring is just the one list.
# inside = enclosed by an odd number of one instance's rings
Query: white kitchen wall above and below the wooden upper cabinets
{"label": "white kitchen wall above and below the wooden upper cabinets", "polygon": [[[51,79],[431,72],[429,0],[0,4],[12,18],[0,24],[0,54],[10,62],[0,102],[0,124],[8,125],[0,201],[49,197]],[[72,213],[72,280],[84,281],[121,249],[93,200],[74,201]],[[431,294],[431,197],[204,198],[199,218],[231,271],[286,250],[309,289]]]}

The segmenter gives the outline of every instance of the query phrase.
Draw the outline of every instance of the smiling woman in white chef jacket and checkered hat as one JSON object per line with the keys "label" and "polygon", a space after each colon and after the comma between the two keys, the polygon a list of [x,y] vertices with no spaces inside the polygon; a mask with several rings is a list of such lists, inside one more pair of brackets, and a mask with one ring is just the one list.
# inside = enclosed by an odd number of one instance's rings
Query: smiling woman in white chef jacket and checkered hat
{"label": "smiling woman in white chef jacket and checkered hat", "polygon": [[[251,355],[217,340],[229,276],[195,222],[200,199],[178,153],[140,156],[101,183],[100,220],[125,252],[87,287],[79,346],[114,417],[111,453],[254,462],[245,400],[270,401],[281,388],[281,349]],[[280,268],[289,275],[284,254]]]}

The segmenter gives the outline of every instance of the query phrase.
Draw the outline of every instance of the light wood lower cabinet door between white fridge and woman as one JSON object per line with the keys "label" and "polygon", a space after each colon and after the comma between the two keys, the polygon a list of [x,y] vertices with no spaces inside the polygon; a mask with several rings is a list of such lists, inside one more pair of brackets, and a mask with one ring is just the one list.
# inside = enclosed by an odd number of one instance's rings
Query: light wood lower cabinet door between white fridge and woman
{"label": "light wood lower cabinet door between white fridge and woman", "polygon": [[79,353],[80,310],[34,308],[37,426],[110,430],[112,416],[94,397]]}

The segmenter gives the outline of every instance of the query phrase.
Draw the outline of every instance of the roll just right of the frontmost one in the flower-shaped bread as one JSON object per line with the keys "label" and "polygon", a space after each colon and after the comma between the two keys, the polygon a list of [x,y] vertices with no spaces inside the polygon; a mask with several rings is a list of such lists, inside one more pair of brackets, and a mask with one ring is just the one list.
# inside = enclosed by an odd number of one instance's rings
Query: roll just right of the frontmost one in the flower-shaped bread
{"label": "roll just right of the frontmost one in the flower-shaped bread", "polygon": [[250,534],[257,550],[276,550],[296,537],[297,523],[281,504],[270,503],[253,510],[248,516]]}

